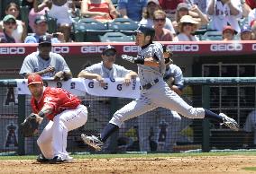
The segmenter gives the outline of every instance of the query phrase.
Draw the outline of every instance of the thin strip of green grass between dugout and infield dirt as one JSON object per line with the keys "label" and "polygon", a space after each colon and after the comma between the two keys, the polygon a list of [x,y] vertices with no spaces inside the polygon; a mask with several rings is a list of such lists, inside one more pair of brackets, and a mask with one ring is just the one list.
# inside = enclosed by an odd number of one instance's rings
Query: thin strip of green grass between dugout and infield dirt
{"label": "thin strip of green grass between dugout and infield dirt", "polygon": [[[161,157],[200,157],[200,156],[255,156],[256,152],[194,152],[194,153],[148,153],[148,154],[85,154],[71,155],[75,159],[112,159],[112,158],[161,158]],[[0,156],[0,160],[34,160],[37,156]]]}

